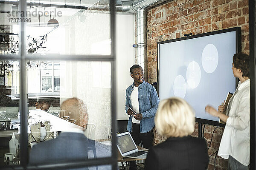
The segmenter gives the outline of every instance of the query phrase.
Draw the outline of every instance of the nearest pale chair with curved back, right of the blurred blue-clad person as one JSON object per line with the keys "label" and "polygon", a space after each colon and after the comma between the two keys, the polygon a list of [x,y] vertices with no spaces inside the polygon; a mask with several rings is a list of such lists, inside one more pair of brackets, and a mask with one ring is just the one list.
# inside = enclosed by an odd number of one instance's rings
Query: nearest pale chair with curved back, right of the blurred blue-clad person
{"label": "nearest pale chair with curved back, right of the blurred blue-clad person", "polygon": [[[97,158],[96,155],[96,147],[95,147],[95,141],[94,141],[94,137],[95,137],[95,129],[96,129],[96,125],[94,123],[87,123],[82,125],[82,127],[84,127],[85,133],[86,133],[86,137],[87,137],[87,150],[92,150],[93,151],[93,157]],[[96,170],[98,170],[98,166],[96,166]]]}

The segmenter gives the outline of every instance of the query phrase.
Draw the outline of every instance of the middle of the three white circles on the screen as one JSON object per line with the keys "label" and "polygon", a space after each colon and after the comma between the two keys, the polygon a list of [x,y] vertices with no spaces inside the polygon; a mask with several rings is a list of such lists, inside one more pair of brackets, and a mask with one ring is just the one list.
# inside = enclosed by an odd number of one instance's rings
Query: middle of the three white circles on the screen
{"label": "middle of the three white circles on the screen", "polygon": [[201,69],[195,61],[189,62],[186,70],[186,80],[190,88],[196,88],[201,80]]}

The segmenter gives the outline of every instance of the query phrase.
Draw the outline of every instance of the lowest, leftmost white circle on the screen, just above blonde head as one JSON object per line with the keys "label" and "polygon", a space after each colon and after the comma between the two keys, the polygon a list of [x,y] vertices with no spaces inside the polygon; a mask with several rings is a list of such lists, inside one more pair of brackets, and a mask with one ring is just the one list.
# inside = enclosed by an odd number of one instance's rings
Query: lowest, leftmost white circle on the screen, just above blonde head
{"label": "lowest, leftmost white circle on the screen, just above blonde head", "polygon": [[186,81],[183,76],[178,75],[173,82],[173,93],[175,96],[184,98],[186,95]]}

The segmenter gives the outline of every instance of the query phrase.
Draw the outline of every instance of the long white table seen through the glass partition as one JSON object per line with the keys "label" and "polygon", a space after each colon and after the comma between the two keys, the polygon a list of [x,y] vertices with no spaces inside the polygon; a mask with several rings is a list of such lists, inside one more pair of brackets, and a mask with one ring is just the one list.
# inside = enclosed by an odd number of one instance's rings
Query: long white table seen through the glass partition
{"label": "long white table seen through the glass partition", "polygon": [[[18,119],[19,119],[19,116],[18,116]],[[68,122],[50,113],[42,111],[41,109],[33,109],[33,110],[29,110],[28,133],[30,133],[30,125],[33,125],[37,122],[44,123],[44,121],[50,122],[51,132],[60,132],[60,131],[66,131],[66,130],[72,130],[72,129],[85,130],[84,127],[75,125],[71,122]],[[20,126],[18,127],[18,130],[1,130],[0,137],[12,136],[12,133],[15,133],[15,135],[19,135]]]}

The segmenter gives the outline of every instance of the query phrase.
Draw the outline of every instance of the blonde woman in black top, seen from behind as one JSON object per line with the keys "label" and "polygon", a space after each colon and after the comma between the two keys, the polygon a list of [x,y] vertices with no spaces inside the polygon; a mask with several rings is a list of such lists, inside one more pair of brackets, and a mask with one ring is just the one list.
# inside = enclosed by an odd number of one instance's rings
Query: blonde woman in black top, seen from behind
{"label": "blonde woman in black top, seen from behind", "polygon": [[195,128],[195,113],[185,100],[162,100],[154,121],[157,132],[168,139],[149,150],[145,170],[207,169],[207,144],[202,138],[190,136]]}

